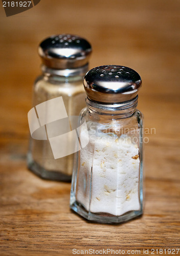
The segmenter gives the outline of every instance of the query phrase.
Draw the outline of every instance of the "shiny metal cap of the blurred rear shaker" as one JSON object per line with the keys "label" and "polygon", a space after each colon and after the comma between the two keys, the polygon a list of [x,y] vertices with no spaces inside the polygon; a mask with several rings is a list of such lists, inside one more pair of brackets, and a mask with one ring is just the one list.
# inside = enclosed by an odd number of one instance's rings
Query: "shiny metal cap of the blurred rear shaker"
{"label": "shiny metal cap of the blurred rear shaker", "polygon": [[77,35],[61,34],[44,39],[38,53],[45,66],[52,69],[79,68],[88,63],[92,47]]}

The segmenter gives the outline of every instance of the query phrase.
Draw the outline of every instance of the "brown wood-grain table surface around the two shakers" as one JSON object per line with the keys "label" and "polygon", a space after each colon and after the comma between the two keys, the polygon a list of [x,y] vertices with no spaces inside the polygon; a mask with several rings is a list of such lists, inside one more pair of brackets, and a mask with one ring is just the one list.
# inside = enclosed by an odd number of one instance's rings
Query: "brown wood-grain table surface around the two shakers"
{"label": "brown wood-grain table surface around the two shakers", "polygon": [[[0,6],[1,256],[180,248],[179,11],[178,0],[43,0],[10,17]],[[41,180],[26,167],[27,113],[40,72],[37,46],[58,33],[79,34],[92,43],[90,68],[128,66],[143,78],[138,108],[145,128],[155,133],[145,135],[141,218],[119,225],[89,223],[69,208],[70,183]]]}

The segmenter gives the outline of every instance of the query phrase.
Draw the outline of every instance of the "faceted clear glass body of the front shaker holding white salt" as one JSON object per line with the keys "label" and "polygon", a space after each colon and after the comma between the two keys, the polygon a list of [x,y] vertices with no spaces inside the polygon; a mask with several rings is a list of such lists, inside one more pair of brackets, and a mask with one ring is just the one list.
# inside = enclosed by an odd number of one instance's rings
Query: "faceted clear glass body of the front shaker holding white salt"
{"label": "faceted clear glass body of the front shaker holding white salt", "polygon": [[119,223],[143,212],[143,116],[85,108],[75,155],[70,207],[84,218]]}

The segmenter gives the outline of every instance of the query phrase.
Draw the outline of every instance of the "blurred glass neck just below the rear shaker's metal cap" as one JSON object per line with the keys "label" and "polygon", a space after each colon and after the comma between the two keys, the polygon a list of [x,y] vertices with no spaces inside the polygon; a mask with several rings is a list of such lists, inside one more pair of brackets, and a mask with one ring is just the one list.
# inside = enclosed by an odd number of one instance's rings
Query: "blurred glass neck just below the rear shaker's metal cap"
{"label": "blurred glass neck just below the rear shaker's metal cap", "polygon": [[52,69],[45,65],[41,66],[42,74],[46,76],[60,76],[64,78],[68,77],[80,77],[83,76],[88,71],[88,63],[82,67],[75,68],[75,69]]}

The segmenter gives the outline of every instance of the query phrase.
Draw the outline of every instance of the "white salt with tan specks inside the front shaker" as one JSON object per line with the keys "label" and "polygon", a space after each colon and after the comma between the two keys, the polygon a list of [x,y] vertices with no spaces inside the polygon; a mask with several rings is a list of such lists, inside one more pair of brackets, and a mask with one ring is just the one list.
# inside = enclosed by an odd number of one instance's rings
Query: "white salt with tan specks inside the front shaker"
{"label": "white salt with tan specks inside the front shaker", "polygon": [[[82,130],[80,140],[86,137]],[[77,201],[87,211],[115,216],[140,210],[139,165],[137,144],[89,131],[89,143],[80,151]]]}

